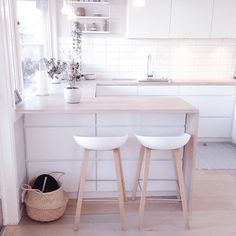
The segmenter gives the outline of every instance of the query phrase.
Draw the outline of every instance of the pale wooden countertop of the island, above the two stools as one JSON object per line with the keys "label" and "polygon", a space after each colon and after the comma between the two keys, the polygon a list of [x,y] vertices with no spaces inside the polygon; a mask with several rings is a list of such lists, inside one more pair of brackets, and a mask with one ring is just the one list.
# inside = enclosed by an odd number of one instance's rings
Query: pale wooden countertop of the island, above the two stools
{"label": "pale wooden countertop of the island, above the two stools", "polygon": [[17,113],[78,113],[78,112],[165,112],[198,113],[198,110],[176,97],[82,97],[78,104],[67,104],[63,94],[33,96],[17,106]]}

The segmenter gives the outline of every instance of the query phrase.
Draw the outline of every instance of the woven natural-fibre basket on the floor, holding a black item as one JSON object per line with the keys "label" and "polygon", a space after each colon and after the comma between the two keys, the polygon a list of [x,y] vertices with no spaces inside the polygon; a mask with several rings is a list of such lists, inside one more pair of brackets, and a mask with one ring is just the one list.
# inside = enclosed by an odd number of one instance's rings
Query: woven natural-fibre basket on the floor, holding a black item
{"label": "woven natural-fibre basket on the floor, holding a black item", "polygon": [[38,189],[32,189],[33,184],[24,184],[22,200],[26,205],[28,216],[36,221],[49,222],[63,216],[68,196],[60,186],[59,189],[43,193]]}

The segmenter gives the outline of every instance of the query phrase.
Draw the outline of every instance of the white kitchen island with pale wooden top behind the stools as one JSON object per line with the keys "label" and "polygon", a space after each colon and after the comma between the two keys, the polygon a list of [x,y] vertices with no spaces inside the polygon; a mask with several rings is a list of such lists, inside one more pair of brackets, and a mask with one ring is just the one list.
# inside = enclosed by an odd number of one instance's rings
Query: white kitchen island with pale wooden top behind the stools
{"label": "white kitchen island with pale wooden top behind the stools", "polygon": [[[188,200],[198,130],[198,110],[176,97],[94,97],[89,92],[79,104],[66,104],[62,94],[33,96],[17,107],[24,115],[28,179],[42,173],[63,171],[62,184],[73,198],[79,184],[82,149],[74,135],[118,136],[129,134],[121,148],[126,190],[133,183],[139,145],[134,134],[192,135],[183,151],[183,170]],[[86,195],[114,196],[115,172],[110,152],[94,152],[90,158]],[[149,190],[157,195],[175,195],[176,181],[170,153],[153,152]],[[108,194],[109,192],[109,194]]]}

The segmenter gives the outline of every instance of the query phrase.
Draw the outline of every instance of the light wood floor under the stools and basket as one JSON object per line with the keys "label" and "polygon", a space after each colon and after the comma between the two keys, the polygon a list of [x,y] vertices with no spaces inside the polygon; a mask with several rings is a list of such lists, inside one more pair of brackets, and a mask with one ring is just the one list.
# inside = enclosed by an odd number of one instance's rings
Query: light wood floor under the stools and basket
{"label": "light wood floor under the stools and basket", "polygon": [[[126,232],[120,230],[115,203],[86,203],[80,231],[73,231],[75,201],[66,215],[55,222],[41,224],[23,217],[9,226],[5,236],[235,236],[236,171],[195,171],[191,229],[185,230],[180,205],[148,202],[145,229],[137,229],[138,201],[126,204]],[[92,213],[92,215],[91,215]]]}

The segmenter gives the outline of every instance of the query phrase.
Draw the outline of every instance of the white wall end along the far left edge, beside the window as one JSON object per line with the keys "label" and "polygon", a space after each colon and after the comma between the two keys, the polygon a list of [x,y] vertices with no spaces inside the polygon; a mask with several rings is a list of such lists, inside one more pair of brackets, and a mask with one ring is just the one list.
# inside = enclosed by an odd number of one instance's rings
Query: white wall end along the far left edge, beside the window
{"label": "white wall end along the far left edge, beside the window", "polygon": [[[19,204],[20,186],[19,169],[15,149],[14,132],[14,79],[15,73],[15,24],[13,11],[15,1],[0,1],[0,180],[3,205],[4,224],[17,224],[21,217]],[[20,168],[20,166],[19,166]]]}

